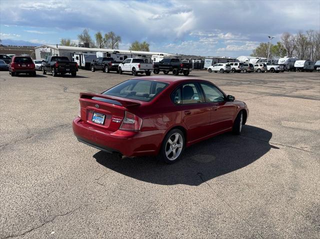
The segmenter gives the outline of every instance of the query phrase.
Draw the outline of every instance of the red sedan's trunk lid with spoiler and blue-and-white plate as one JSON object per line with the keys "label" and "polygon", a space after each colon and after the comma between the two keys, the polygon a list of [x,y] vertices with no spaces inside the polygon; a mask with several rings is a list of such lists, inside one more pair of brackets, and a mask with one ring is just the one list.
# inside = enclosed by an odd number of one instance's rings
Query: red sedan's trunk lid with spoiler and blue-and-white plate
{"label": "red sedan's trunk lid with spoiler and blue-and-white plate", "polygon": [[125,111],[140,103],[116,96],[80,93],[81,120],[94,127],[114,132],[119,129]]}

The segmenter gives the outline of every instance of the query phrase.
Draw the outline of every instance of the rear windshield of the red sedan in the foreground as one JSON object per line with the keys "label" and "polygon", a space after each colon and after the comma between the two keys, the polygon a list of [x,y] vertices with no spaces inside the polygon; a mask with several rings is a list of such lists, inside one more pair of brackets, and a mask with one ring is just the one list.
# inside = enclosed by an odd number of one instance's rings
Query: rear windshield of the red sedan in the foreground
{"label": "rear windshield of the red sedan in the foreground", "polygon": [[113,95],[123,98],[150,101],[159,94],[168,84],[151,80],[127,80],[103,92],[104,95]]}

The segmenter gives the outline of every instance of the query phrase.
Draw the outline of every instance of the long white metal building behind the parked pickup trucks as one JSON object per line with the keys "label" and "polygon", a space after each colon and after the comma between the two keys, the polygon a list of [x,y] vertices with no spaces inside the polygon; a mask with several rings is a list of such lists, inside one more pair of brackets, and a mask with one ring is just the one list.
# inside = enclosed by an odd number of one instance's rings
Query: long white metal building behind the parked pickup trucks
{"label": "long white metal building behind the parked pickup trucks", "polygon": [[72,53],[90,53],[96,54],[96,52],[109,52],[112,53],[116,51],[117,53],[127,53],[134,54],[134,56],[144,56],[151,57],[151,55],[166,55],[166,56],[176,56],[174,54],[168,54],[163,52],[151,52],[151,51],[130,51],[130,50],[118,50],[118,49],[105,49],[105,48],[87,48],[87,47],[78,47],[78,46],[63,46],[63,45],[41,45],[34,48],[35,50],[35,59],[43,60],[48,56],[57,55],[57,56],[66,56],[71,61]]}

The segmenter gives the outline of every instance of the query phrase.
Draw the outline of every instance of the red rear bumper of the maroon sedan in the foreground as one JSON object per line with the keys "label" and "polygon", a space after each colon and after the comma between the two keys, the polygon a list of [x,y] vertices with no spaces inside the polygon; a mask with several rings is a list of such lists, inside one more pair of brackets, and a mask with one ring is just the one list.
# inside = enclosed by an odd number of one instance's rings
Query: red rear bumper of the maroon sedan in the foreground
{"label": "red rear bumper of the maroon sedan in the foreground", "polygon": [[160,130],[109,132],[89,125],[79,117],[73,120],[72,129],[78,141],[108,153],[128,157],[157,155],[164,134]]}

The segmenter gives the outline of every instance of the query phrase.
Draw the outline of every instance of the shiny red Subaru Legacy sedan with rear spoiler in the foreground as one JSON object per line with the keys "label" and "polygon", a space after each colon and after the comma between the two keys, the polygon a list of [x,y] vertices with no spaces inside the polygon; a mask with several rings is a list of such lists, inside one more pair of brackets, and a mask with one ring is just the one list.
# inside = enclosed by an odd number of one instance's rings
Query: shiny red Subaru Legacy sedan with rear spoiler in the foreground
{"label": "shiny red Subaru Legacy sedan with rear spoiler in the foreground", "polygon": [[72,128],[78,141],[121,156],[160,155],[180,159],[185,147],[232,131],[240,134],[248,117],[209,81],[186,77],[139,77],[101,94],[80,93]]}

